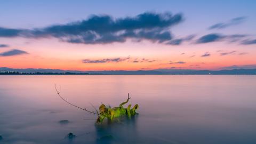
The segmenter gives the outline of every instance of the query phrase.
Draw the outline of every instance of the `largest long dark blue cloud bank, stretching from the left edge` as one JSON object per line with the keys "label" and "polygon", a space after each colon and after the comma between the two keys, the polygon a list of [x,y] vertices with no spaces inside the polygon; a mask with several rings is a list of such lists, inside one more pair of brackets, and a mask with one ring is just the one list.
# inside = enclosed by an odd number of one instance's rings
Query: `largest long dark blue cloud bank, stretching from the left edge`
{"label": "largest long dark blue cloud bank, stretching from the left edge", "polygon": [[170,41],[170,27],[183,21],[182,14],[145,12],[135,17],[114,19],[109,15],[91,15],[86,20],[36,29],[0,27],[0,37],[57,37],[61,41],[84,44],[123,43],[132,38],[163,43]]}

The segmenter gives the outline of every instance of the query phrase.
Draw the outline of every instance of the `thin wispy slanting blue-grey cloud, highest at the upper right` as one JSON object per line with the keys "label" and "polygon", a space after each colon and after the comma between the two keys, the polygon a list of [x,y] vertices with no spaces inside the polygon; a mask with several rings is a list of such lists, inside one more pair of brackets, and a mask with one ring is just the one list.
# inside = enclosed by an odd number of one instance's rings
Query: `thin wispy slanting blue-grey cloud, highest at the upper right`
{"label": "thin wispy slanting blue-grey cloud, highest at the upper right", "polygon": [[212,25],[211,27],[209,27],[209,29],[223,29],[230,26],[239,25],[243,23],[245,20],[246,20],[246,17],[237,17],[229,20],[228,22],[216,23],[215,25]]}

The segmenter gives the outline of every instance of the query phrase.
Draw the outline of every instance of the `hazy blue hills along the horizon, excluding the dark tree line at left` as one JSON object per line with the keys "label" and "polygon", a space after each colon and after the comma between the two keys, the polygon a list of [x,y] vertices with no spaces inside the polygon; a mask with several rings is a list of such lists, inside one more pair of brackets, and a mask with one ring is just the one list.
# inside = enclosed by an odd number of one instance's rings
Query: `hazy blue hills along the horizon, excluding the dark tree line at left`
{"label": "hazy blue hills along the horizon, excluding the dark tree line at left", "polygon": [[13,69],[1,67],[4,71],[17,71],[19,73],[79,73],[79,74],[105,74],[105,75],[256,75],[256,69],[223,69],[223,70],[191,70],[191,69],[155,69],[155,70],[103,70],[78,71],[61,69]]}

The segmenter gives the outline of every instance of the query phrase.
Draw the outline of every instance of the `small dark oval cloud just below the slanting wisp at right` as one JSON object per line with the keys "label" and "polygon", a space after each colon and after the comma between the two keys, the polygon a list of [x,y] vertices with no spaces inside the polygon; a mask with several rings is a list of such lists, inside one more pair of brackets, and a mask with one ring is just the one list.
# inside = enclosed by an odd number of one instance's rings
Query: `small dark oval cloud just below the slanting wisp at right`
{"label": "small dark oval cloud just below the slanting wisp at right", "polygon": [[197,39],[196,43],[200,44],[200,43],[216,42],[216,41],[220,41],[223,38],[225,38],[225,36],[222,36],[220,34],[208,34]]}

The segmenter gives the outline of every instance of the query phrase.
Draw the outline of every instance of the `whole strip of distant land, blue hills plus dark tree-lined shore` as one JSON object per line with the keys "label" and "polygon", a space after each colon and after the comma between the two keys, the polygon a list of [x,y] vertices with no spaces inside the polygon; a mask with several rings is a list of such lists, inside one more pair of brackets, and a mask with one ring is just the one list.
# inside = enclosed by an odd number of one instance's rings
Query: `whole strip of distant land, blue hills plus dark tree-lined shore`
{"label": "whole strip of distant land, blue hills plus dark tree-lined shore", "polygon": [[256,69],[154,69],[78,71],[61,69],[13,69],[0,67],[0,75],[256,75]]}

